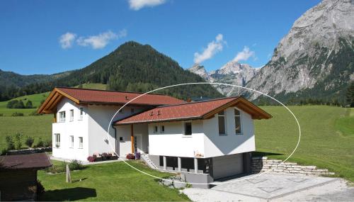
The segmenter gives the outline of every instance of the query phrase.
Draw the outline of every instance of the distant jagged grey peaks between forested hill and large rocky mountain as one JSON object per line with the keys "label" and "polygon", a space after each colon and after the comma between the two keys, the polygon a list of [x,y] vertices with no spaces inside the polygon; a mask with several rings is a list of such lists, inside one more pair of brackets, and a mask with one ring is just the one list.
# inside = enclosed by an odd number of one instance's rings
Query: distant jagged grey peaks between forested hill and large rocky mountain
{"label": "distant jagged grey peaks between forested hill and large rocky mountain", "polygon": [[[194,74],[198,74],[207,82],[245,86],[246,82],[249,82],[249,80],[256,75],[259,68],[253,68],[249,64],[240,64],[230,61],[224,64],[220,69],[212,72],[207,72],[205,68],[199,64],[194,64],[193,67],[190,67],[188,70]],[[229,96],[232,89],[234,89],[233,86],[217,86],[217,90],[225,96]]]}

